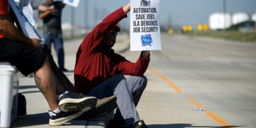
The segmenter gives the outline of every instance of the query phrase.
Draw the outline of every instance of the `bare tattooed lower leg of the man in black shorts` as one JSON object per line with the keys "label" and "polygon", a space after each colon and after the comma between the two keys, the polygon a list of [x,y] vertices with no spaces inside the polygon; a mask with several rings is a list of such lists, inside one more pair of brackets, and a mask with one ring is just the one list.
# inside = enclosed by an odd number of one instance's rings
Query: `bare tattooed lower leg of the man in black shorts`
{"label": "bare tattooed lower leg of the man in black shorts", "polygon": [[51,111],[56,110],[59,107],[57,94],[62,94],[66,90],[55,81],[55,76],[50,68],[48,57],[45,59],[43,66],[34,72],[34,78],[35,84],[44,95]]}

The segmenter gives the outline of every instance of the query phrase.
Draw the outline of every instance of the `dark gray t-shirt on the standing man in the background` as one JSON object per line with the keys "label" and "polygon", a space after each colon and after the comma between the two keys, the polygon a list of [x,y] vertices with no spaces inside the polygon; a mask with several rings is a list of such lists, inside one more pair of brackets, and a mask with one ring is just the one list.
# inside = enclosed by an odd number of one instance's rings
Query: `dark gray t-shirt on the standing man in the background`
{"label": "dark gray t-shirt on the standing man in the background", "polygon": [[[44,33],[51,35],[58,35],[62,33],[61,30],[61,11],[66,4],[62,1],[55,1],[51,5],[42,3],[42,5],[50,7],[54,5],[54,12],[51,12],[48,16],[43,19],[44,23]],[[43,13],[39,11],[39,14]]]}

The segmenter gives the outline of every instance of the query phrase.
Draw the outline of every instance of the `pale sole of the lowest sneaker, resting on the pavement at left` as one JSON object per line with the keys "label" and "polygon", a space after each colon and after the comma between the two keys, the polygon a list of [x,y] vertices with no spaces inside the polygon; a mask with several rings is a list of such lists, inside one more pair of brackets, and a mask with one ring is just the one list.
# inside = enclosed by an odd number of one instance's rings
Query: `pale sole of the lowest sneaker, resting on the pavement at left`
{"label": "pale sole of the lowest sneaker, resting on the pavement at left", "polygon": [[79,117],[82,114],[83,114],[83,112],[78,112],[74,115],[70,115],[70,116],[67,116],[67,117],[60,118],[60,119],[55,119],[55,120],[50,119],[49,120],[49,126],[61,126],[61,125],[65,124],[66,122],[68,122],[68,121],[70,121],[70,120],[72,120],[76,117]]}

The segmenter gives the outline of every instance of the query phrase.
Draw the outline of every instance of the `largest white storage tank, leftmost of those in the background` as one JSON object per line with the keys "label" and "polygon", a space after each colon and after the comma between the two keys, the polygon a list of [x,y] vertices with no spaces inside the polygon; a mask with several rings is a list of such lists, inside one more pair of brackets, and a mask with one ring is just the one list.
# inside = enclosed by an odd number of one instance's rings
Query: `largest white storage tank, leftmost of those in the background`
{"label": "largest white storage tank, leftmost of those in the background", "polygon": [[[226,17],[226,25],[224,16]],[[225,27],[226,26],[226,27]],[[229,13],[213,13],[209,16],[209,28],[216,29],[224,29],[229,28],[231,26],[231,15]]]}

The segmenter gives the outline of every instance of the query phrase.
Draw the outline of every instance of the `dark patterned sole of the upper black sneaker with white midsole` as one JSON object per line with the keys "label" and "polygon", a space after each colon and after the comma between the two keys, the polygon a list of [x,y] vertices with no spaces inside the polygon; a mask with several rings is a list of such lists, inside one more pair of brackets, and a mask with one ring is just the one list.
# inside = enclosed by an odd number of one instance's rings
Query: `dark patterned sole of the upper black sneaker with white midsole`
{"label": "dark patterned sole of the upper black sneaker with white midsole", "polygon": [[66,98],[59,102],[59,109],[63,112],[86,112],[95,108],[97,98],[85,97],[81,99]]}

